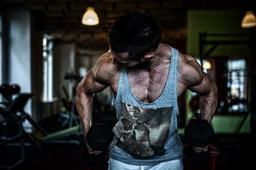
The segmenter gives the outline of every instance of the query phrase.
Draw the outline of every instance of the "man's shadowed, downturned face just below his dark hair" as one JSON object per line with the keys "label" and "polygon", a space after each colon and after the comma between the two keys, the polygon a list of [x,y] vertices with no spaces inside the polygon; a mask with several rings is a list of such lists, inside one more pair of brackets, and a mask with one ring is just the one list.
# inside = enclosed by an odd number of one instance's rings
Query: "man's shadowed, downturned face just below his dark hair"
{"label": "man's shadowed, downturned face just below his dark hair", "polygon": [[132,60],[128,52],[115,53],[113,55],[113,64],[120,64],[122,66],[132,67],[140,63],[140,61]]}

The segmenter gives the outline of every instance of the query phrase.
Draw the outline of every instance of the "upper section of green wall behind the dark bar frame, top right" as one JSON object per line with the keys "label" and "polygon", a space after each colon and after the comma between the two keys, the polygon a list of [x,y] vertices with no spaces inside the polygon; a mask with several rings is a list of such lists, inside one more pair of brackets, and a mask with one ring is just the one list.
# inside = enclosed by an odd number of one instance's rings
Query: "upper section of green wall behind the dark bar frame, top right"
{"label": "upper section of green wall behind the dark bar frame, top right", "polygon": [[[199,55],[199,32],[207,33],[248,33],[249,29],[241,28],[241,20],[245,11],[241,10],[189,10],[187,13],[187,52],[197,57]],[[238,40],[238,37],[209,37],[207,40]],[[240,39],[246,39],[240,37]],[[206,46],[204,50],[209,49]],[[246,45],[220,45],[213,55],[249,55]]]}

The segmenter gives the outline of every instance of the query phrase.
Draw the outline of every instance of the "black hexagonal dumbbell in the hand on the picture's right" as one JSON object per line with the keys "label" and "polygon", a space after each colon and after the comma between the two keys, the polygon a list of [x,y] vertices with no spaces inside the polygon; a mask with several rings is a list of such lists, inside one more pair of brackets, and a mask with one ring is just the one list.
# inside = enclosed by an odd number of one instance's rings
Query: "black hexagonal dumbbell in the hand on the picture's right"
{"label": "black hexagonal dumbbell in the hand on the picture's right", "polygon": [[214,134],[212,126],[207,120],[192,119],[185,128],[185,138],[189,139],[189,145],[185,149],[185,156],[191,164],[206,163],[211,152],[208,149],[206,152],[196,153],[194,147],[206,147],[209,144],[209,139]]}

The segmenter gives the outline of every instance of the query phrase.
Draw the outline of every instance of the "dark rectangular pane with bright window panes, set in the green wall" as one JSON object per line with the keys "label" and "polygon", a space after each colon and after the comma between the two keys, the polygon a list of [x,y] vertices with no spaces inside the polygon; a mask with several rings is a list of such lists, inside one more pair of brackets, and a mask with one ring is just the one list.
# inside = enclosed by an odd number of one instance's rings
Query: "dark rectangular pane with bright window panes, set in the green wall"
{"label": "dark rectangular pane with bright window panes, set in the green wall", "polygon": [[216,115],[247,114],[247,60],[239,56],[209,58],[210,79],[218,87]]}

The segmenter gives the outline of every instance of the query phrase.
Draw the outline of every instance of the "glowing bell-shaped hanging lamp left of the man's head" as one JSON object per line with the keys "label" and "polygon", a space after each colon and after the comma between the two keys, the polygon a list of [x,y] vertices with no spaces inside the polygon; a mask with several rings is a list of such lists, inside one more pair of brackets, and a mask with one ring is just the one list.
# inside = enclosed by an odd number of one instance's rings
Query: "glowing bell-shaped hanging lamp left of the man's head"
{"label": "glowing bell-shaped hanging lamp left of the man's head", "polygon": [[99,24],[98,14],[94,11],[93,7],[88,7],[86,12],[84,12],[82,24],[87,26],[95,26]]}

